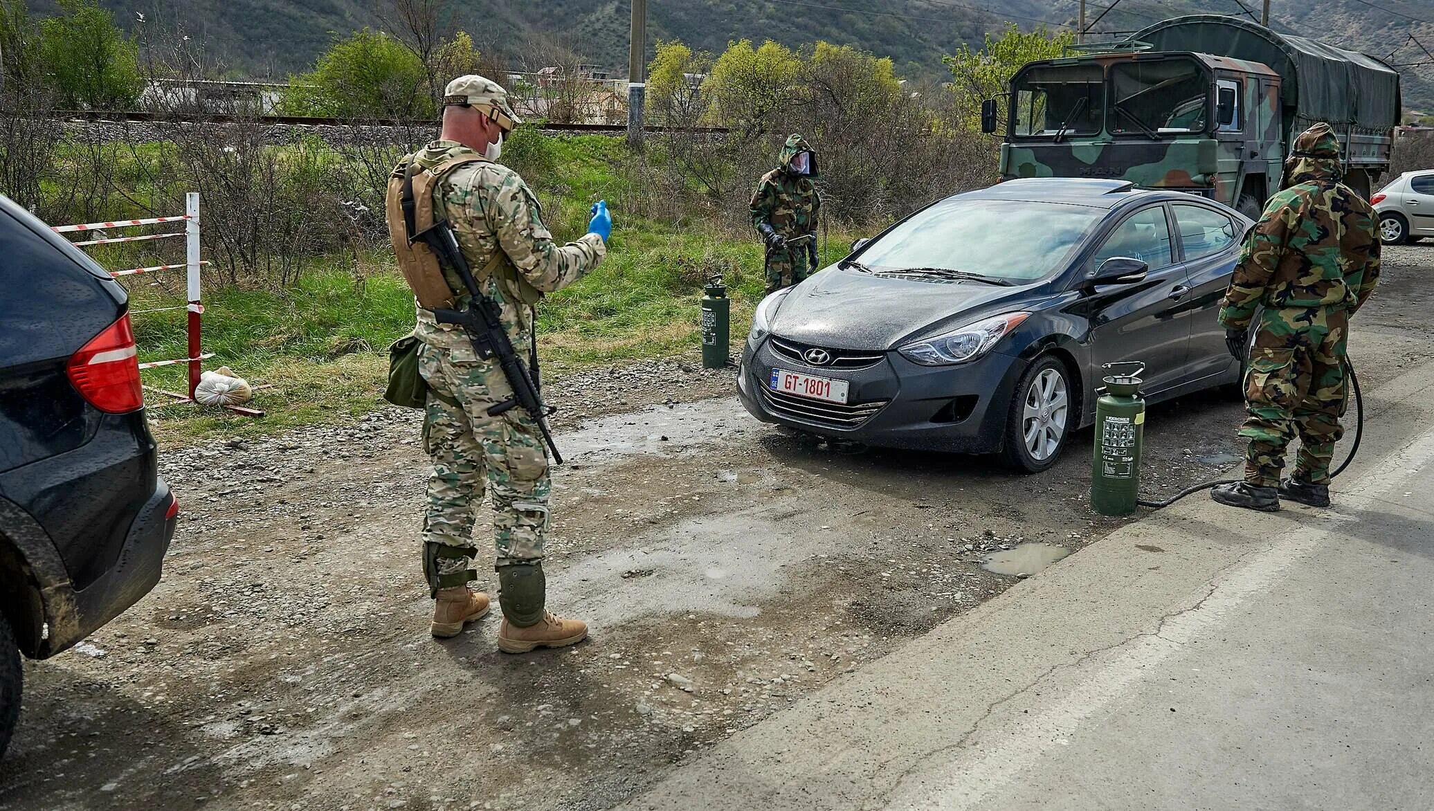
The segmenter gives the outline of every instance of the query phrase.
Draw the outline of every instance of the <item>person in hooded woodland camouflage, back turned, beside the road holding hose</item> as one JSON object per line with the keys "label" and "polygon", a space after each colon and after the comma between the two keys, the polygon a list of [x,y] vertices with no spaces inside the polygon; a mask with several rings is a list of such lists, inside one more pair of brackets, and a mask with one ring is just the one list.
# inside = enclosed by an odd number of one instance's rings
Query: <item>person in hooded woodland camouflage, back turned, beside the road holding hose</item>
{"label": "person in hooded woodland camouflage, back turned, beside the road holding hose", "polygon": [[[1246,239],[1220,309],[1230,354],[1243,355],[1260,309],[1245,378],[1245,480],[1216,487],[1222,504],[1278,510],[1285,497],[1329,504],[1329,463],[1344,430],[1349,315],[1380,278],[1374,209],[1339,182],[1339,140],[1316,123],[1295,140],[1283,189]],[[1285,447],[1299,436],[1293,474]]]}

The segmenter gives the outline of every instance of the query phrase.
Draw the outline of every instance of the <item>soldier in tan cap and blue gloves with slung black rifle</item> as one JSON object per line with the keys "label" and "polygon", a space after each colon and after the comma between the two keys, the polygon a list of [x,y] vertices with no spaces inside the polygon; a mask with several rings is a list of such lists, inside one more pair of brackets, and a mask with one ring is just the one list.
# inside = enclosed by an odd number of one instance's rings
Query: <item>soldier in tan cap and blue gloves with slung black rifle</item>
{"label": "soldier in tan cap and blue gloves with slung black rifle", "polygon": [[[607,254],[612,221],[605,206],[582,239],[556,245],[542,222],[542,209],[516,172],[496,163],[503,133],[518,116],[508,93],[482,76],[463,76],[445,92],[443,132],[413,155],[432,169],[456,156],[473,158],[435,183],[433,216],[447,219],[483,292],[502,307],[515,347],[529,345],[532,305],[543,292],[562,289],[591,272]],[[508,126],[503,126],[503,125]],[[502,252],[496,269],[489,259]],[[467,304],[463,282],[443,268],[457,297]],[[498,416],[488,410],[512,397],[503,371],[482,360],[460,327],[437,324],[417,309],[414,334],[423,341],[420,371],[429,384],[423,441],[433,459],[423,522],[424,570],[436,595],[433,635],[456,636],[466,622],[488,612],[488,596],[467,589],[476,572],[470,562],[475,509],[483,484],[493,499],[493,542],[498,547],[499,603],[503,622],[499,648],[509,653],[538,646],[572,645],[587,636],[578,620],[543,610],[543,539],[548,534],[548,456],[533,418],[523,408]]]}

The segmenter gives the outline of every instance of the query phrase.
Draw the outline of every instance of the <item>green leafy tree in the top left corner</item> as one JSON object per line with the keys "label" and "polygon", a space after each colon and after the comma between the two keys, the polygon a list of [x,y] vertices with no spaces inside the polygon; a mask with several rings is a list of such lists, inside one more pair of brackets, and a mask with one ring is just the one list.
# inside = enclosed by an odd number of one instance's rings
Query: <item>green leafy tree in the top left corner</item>
{"label": "green leafy tree in the top left corner", "polygon": [[139,97],[135,42],[95,0],[59,0],[62,14],[40,21],[40,53],[66,107],[126,109]]}

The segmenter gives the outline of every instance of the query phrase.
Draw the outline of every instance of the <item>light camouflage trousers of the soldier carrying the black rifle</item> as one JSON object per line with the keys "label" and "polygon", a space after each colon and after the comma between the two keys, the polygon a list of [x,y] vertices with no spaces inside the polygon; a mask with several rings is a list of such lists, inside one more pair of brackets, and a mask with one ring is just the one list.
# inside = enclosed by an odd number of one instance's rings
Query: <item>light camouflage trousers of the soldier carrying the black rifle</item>
{"label": "light camouflage trousers of the soldier carrying the black rifle", "polygon": [[522,408],[488,414],[512,393],[492,363],[455,360],[449,350],[424,345],[419,370],[433,391],[462,406],[430,393],[423,420],[424,450],[433,459],[423,542],[442,544],[437,573],[463,572],[478,555],[473,519],[485,479],[493,494],[496,565],[542,560],[551,481],[536,423]]}

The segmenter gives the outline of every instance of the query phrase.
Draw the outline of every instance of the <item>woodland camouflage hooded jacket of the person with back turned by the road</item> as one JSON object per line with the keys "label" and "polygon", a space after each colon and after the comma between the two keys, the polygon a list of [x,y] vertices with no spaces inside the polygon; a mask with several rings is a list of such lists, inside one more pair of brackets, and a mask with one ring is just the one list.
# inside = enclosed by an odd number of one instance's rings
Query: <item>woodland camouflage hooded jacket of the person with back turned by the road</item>
{"label": "woodland camouflage hooded jacket of the person with back turned by the road", "polygon": [[[1338,155],[1338,142],[1332,149]],[[1380,278],[1375,215],[1339,178],[1338,156],[1293,163],[1293,185],[1271,198],[1245,241],[1220,308],[1222,325],[1246,328],[1259,305],[1354,312],[1369,298]]]}

